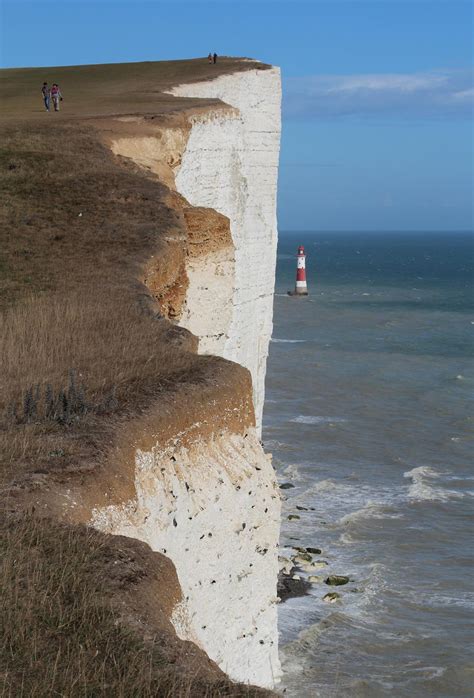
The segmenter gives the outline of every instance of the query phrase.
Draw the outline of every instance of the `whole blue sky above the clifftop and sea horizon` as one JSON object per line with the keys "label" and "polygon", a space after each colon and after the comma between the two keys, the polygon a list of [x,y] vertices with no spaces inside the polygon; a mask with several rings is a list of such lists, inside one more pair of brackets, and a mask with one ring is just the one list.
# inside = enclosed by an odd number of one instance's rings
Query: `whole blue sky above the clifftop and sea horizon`
{"label": "whole blue sky above the clifftop and sea horizon", "polygon": [[464,0],[3,0],[4,67],[254,56],[282,68],[282,229],[472,229]]}

